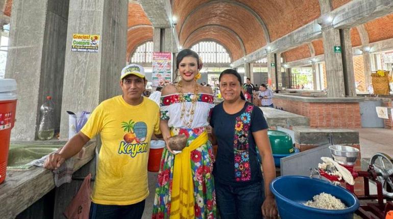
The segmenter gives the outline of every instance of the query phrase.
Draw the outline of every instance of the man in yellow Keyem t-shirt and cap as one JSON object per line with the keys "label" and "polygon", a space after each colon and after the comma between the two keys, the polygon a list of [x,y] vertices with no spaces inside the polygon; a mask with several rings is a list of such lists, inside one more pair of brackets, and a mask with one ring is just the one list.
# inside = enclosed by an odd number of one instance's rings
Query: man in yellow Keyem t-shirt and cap
{"label": "man in yellow Keyem t-shirt and cap", "polygon": [[101,135],[90,218],[142,217],[149,196],[149,143],[153,133],[161,133],[158,105],[142,96],[146,83],[142,66],[126,66],[120,76],[123,94],[97,106],[82,130],[45,161],[45,168],[57,169]]}

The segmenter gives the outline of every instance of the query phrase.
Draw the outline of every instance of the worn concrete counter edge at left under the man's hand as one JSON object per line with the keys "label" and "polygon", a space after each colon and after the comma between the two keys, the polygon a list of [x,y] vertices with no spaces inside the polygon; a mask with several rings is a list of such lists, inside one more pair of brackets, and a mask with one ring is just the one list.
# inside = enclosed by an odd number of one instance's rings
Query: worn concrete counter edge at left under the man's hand
{"label": "worn concrete counter edge at left under the man's hand", "polygon": [[[74,156],[74,172],[94,158],[95,147],[96,142],[90,141]],[[27,171],[7,171],[6,180],[0,184],[0,200],[3,201],[0,218],[15,218],[53,188],[54,174],[42,167],[34,166]]]}

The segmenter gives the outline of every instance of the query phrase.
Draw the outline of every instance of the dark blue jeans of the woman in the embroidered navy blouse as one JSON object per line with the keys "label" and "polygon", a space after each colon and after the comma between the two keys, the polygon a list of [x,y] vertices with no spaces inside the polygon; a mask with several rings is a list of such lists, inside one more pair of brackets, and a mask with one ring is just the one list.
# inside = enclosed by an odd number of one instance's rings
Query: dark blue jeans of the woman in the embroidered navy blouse
{"label": "dark blue jeans of the woman in the embroidered navy blouse", "polygon": [[265,199],[263,181],[235,187],[215,183],[217,207],[222,219],[260,219]]}

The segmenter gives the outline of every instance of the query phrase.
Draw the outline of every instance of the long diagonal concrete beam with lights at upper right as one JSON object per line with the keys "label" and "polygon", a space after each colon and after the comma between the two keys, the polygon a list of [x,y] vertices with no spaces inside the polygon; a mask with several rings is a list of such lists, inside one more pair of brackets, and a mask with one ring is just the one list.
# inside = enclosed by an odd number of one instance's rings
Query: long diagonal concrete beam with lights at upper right
{"label": "long diagonal concrete beam with lights at upper right", "polygon": [[[321,2],[322,0],[320,0]],[[256,61],[266,57],[265,49],[270,52],[284,52],[299,45],[311,42],[322,37],[322,26],[333,26],[335,29],[350,29],[375,18],[391,14],[393,12],[393,1],[391,0],[353,0],[329,13],[325,13],[316,20],[292,31],[291,33],[271,42],[269,45],[246,56],[248,62]],[[333,21],[329,22],[329,17]],[[318,24],[319,23],[319,24]],[[321,25],[320,25],[321,24]],[[244,64],[243,59],[232,63],[234,67]]]}

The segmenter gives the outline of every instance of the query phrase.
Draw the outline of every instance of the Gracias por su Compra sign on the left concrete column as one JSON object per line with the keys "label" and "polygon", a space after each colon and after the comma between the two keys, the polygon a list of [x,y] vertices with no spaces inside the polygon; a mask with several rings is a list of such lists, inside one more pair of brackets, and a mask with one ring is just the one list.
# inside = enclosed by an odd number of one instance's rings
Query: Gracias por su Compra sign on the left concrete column
{"label": "Gracias por su Compra sign on the left concrete column", "polygon": [[100,35],[72,34],[71,51],[75,52],[98,52]]}

